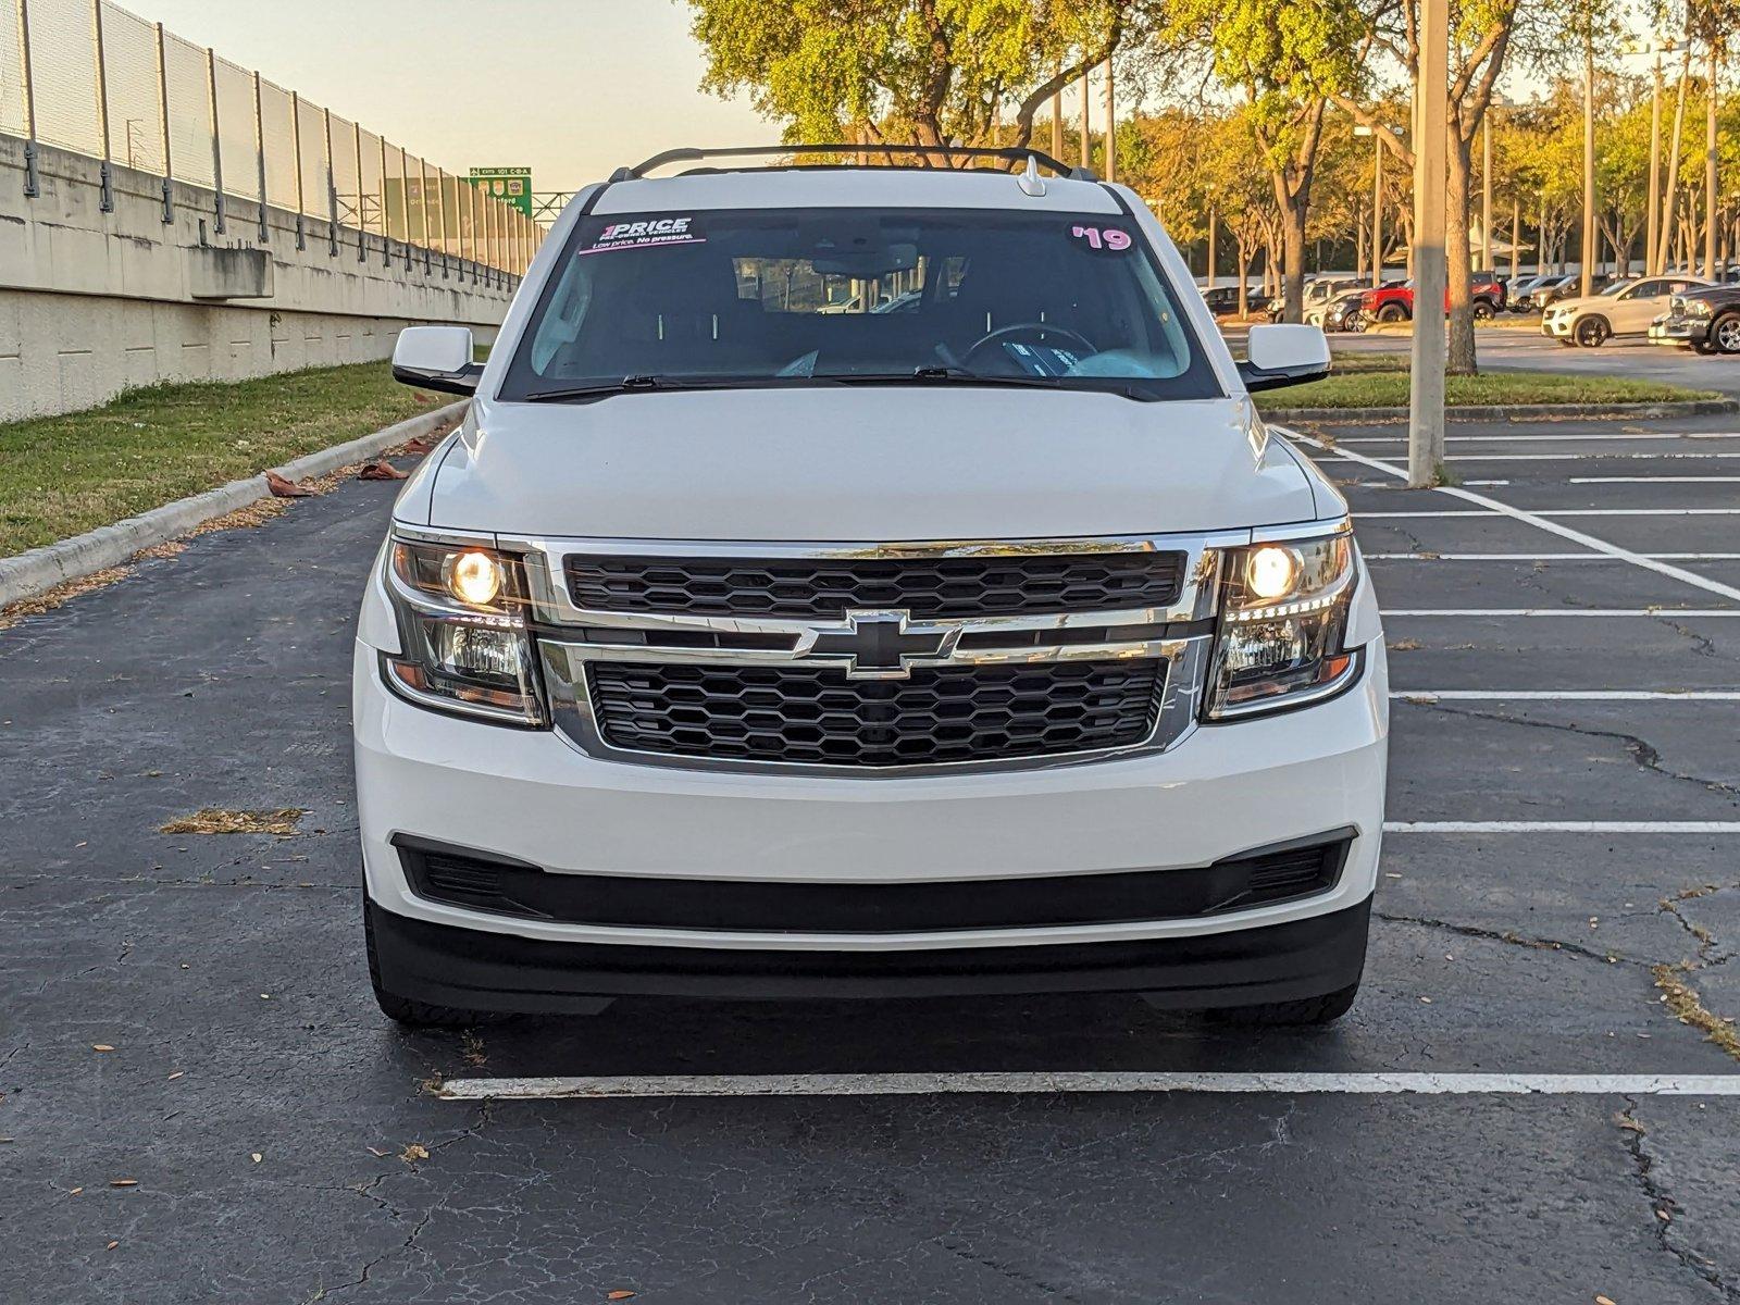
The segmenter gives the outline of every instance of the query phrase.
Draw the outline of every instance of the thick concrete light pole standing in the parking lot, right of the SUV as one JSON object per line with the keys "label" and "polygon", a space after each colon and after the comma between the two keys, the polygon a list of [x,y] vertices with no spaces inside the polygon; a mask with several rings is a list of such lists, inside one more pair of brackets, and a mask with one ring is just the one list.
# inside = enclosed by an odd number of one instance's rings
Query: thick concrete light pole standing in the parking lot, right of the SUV
{"label": "thick concrete light pole standing in the parking lot, right of the SUV", "polygon": [[1437,484],[1444,461],[1444,218],[1449,209],[1449,0],[1420,0],[1415,78],[1415,332],[1408,402],[1408,487]]}

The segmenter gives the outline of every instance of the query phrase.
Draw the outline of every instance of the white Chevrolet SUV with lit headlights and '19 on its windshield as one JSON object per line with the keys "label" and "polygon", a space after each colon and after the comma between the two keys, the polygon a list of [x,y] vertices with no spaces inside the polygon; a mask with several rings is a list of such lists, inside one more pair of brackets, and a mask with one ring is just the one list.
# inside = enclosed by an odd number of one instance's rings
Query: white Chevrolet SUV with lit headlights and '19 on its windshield
{"label": "white Chevrolet SUV with lit headlights and '19 on its windshield", "polygon": [[381,1007],[1342,1014],[1383,640],[1248,397],[1322,332],[1235,364],[1147,205],[1042,155],[646,176],[699,157],[579,193],[487,365],[398,341],[475,400],[357,630]]}

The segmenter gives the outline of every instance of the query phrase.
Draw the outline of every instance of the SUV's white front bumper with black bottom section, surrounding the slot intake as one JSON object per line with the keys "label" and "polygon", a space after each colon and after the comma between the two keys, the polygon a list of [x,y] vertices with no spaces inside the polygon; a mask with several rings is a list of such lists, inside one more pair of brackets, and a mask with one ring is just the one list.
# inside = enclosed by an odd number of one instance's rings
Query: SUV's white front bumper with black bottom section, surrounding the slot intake
{"label": "SUV's white front bumper with black bottom section, surrounding the slot intake", "polygon": [[[1195,1000],[1204,985],[1213,987],[1194,967],[1199,954],[1161,943],[1221,938],[1225,948],[1209,947],[1220,957],[1216,973],[1223,978],[1216,983],[1235,990],[1242,962],[1234,957],[1251,952],[1232,947],[1232,934],[1270,938],[1284,952],[1314,950],[1315,943],[1288,941],[1317,938],[1310,929],[1268,931],[1361,912],[1376,880],[1389,727],[1382,642],[1373,646],[1361,682],[1345,694],[1267,719],[1202,726],[1159,755],[875,780],[600,760],[553,733],[473,724],[400,701],[381,686],[374,651],[364,644],[355,670],[367,893],[378,933],[411,940],[398,952],[393,941],[381,945],[383,981],[421,1000],[552,1009],[536,1002],[555,1000],[559,990],[569,997],[691,990],[670,983],[694,983],[719,995],[743,990],[736,967],[722,966],[719,955],[740,957],[746,973],[760,978],[809,976],[820,992],[856,988],[861,978],[896,960],[898,969],[920,974],[919,988],[1148,988],[1169,987],[1161,971],[1173,957],[1183,966],[1181,990],[1192,994],[1192,1004],[1206,1004]],[[1355,837],[1340,879],[1310,898],[1188,919],[900,933],[625,927],[506,917],[419,896],[393,847],[393,839],[404,835],[571,875],[912,884],[1206,867],[1256,846],[1343,826]],[[1361,948],[1362,931],[1361,915]],[[1338,936],[1352,947],[1352,933]],[[1143,947],[1148,943],[1157,950]],[[1119,950],[1126,947],[1136,950]],[[438,995],[442,974],[463,969],[454,957],[468,954],[487,969],[465,980],[475,988],[472,997]],[[560,957],[567,960],[555,964]],[[971,957],[980,960],[966,964]],[[1159,969],[1133,981],[1131,973],[1150,962]],[[1293,978],[1307,985],[1345,971],[1302,966],[1303,978]],[[555,983],[546,971],[576,978]],[[1027,978],[1014,980],[1016,973]],[[1267,971],[1253,969],[1253,976],[1260,973]],[[666,981],[661,974],[677,978]],[[981,980],[994,987],[978,987]],[[1317,990],[1333,987],[1343,985]],[[780,983],[773,988],[780,990]]]}

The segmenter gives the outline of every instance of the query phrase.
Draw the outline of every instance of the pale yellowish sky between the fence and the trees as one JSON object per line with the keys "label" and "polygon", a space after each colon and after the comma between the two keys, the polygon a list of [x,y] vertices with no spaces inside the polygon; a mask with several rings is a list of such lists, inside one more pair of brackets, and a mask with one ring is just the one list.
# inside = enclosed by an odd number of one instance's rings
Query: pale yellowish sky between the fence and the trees
{"label": "pale yellowish sky between the fence and the trees", "polygon": [[449,172],[574,190],[677,144],[776,143],[699,90],[675,0],[122,0]]}

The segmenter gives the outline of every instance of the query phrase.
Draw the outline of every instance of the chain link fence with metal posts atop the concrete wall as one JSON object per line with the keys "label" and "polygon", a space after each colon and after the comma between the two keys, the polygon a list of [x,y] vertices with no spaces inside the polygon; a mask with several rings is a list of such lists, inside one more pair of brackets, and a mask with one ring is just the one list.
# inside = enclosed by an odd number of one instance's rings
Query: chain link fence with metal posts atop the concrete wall
{"label": "chain link fence with metal posts atop the concrete wall", "polygon": [[40,141],[103,160],[104,207],[111,165],[162,177],[165,223],[183,181],[214,191],[219,231],[233,197],[296,214],[298,240],[306,218],[331,223],[334,252],[358,258],[378,237],[388,258],[520,275],[543,240],[465,177],[108,0],[0,0],[0,132],[26,141],[26,195]]}

